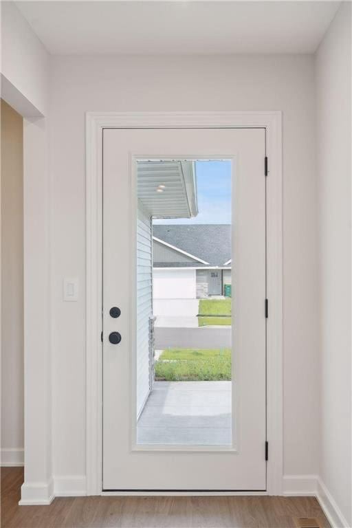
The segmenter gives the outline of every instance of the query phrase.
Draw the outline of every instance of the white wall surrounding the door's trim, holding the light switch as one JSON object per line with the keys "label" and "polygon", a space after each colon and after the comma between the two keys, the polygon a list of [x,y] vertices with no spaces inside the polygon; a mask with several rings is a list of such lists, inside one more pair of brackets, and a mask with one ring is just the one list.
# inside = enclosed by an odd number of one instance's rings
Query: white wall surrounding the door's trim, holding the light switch
{"label": "white wall surrounding the door's trim, holding the light switch", "polygon": [[70,307],[61,291],[66,275],[85,284],[85,111],[228,109],[283,110],[284,465],[318,472],[314,58],[63,56],[53,57],[50,102],[56,475],[85,474],[85,290]]}

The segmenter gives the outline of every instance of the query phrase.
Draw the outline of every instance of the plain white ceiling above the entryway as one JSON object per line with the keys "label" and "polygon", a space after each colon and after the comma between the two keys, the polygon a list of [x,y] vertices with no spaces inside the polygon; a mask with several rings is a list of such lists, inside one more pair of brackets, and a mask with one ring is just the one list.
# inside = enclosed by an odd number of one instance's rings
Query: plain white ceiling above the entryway
{"label": "plain white ceiling above the entryway", "polygon": [[52,54],[314,53],[338,1],[16,1]]}

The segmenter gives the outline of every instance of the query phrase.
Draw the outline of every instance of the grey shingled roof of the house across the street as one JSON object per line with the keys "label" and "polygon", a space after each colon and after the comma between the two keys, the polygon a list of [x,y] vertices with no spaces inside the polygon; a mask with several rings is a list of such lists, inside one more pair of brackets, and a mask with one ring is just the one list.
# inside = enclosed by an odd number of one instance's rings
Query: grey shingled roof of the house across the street
{"label": "grey shingled roof of the house across the street", "polygon": [[[231,225],[230,224],[169,224],[153,225],[153,236],[179,250],[186,251],[198,259],[206,261],[210,266],[224,267],[231,259]],[[200,262],[192,263],[154,263],[154,265],[177,266],[206,266]],[[231,267],[230,265],[226,267]]]}

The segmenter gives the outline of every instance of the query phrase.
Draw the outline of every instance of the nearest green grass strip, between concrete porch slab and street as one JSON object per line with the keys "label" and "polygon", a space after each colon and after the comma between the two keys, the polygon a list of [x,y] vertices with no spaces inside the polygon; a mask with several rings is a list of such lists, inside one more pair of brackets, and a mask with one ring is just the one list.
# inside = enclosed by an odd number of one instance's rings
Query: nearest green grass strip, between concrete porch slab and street
{"label": "nearest green grass strip, between concrete porch slab and street", "polygon": [[155,362],[155,380],[166,382],[231,380],[230,349],[168,349]]}

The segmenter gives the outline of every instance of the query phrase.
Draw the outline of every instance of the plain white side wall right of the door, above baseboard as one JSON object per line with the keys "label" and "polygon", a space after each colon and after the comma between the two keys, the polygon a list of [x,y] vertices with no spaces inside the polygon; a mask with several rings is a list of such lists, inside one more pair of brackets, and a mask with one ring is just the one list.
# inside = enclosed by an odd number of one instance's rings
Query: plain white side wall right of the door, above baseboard
{"label": "plain white side wall right of the door, above baseboard", "polygon": [[[320,267],[320,478],[351,513],[351,4],[316,54]],[[339,524],[340,526],[340,524]]]}

